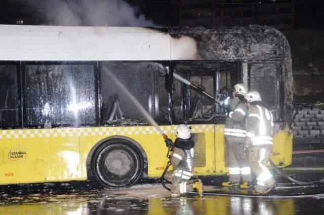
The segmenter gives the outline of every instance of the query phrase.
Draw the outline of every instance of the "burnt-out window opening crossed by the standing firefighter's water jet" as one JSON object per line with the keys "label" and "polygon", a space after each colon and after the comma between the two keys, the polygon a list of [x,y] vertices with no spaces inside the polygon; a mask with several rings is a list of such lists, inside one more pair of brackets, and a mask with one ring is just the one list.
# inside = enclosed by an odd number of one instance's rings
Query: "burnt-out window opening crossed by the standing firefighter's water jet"
{"label": "burnt-out window opening crossed by the standing firefighter's water jet", "polygon": [[[174,72],[214,97],[218,94],[227,95],[233,82],[231,80],[232,67],[226,63],[180,61],[175,63]],[[215,101],[176,79],[174,79],[174,88],[176,123],[221,123],[224,121],[224,111]]]}

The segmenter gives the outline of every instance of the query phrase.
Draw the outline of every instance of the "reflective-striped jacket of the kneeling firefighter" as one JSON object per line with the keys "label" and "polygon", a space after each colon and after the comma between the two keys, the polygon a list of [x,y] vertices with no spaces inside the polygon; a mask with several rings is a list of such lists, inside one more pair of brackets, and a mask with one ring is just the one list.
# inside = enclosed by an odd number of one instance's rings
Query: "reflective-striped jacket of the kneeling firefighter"
{"label": "reflective-striped jacket of the kneeling firefighter", "polygon": [[189,150],[174,148],[171,163],[174,175],[182,181],[189,180],[193,175],[193,155],[193,148]]}

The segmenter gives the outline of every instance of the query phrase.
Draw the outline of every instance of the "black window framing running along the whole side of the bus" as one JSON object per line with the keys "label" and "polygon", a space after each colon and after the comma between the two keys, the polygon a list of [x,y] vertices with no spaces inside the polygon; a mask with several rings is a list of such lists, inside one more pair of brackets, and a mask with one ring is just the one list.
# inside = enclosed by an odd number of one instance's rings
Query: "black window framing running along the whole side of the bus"
{"label": "black window framing running along the whole side of the bus", "polygon": [[[218,69],[219,71],[221,69],[230,69],[230,76],[232,77],[237,77],[240,78],[242,77],[241,72],[237,69],[238,66],[241,65],[242,61],[219,61],[219,60],[152,60],[152,61],[146,61],[146,60],[139,60],[139,61],[123,61],[123,60],[109,60],[109,61],[0,61],[1,64],[4,65],[16,65],[17,66],[17,88],[18,88],[18,100],[19,100],[19,105],[18,105],[18,111],[19,111],[19,123],[18,126],[15,127],[10,127],[10,128],[6,128],[3,127],[3,129],[12,129],[12,128],[38,128],[39,125],[26,125],[24,120],[26,117],[26,110],[25,110],[25,103],[24,103],[24,92],[25,92],[25,66],[26,65],[54,65],[54,64],[58,64],[58,65],[82,65],[82,64],[90,64],[90,65],[94,65],[94,77],[95,77],[95,115],[96,115],[96,122],[95,123],[86,123],[86,124],[80,124],[78,127],[87,127],[87,126],[105,126],[102,122],[101,122],[101,118],[102,118],[102,113],[101,113],[101,102],[102,102],[102,92],[101,92],[101,72],[102,72],[102,66],[103,63],[105,62],[114,62],[114,63],[118,63],[118,62],[123,62],[123,63],[145,63],[145,62],[152,62],[152,63],[159,63],[162,64],[164,67],[169,66],[170,71],[172,71],[173,74],[173,70],[174,67],[178,64],[217,64],[215,65],[215,69]],[[281,69],[281,64],[282,62],[280,61],[280,59],[272,59],[272,60],[267,60],[267,61],[244,61],[248,63],[248,77],[250,77],[250,65],[254,64],[254,63],[275,63],[277,66],[277,73],[280,74],[280,76],[278,76],[280,78],[279,80],[279,90],[281,92],[282,89],[284,89],[283,85],[283,74],[282,74],[282,69]],[[215,74],[216,73],[212,73],[210,72],[209,74],[213,75],[214,77],[214,95],[216,94],[216,87],[215,87]],[[191,73],[186,73],[187,77],[184,77],[186,79],[190,78],[192,74]],[[172,77],[173,78],[173,77]],[[241,80],[242,81],[242,80]],[[228,82],[228,81],[227,81]],[[228,84],[228,83],[227,83]],[[230,80],[229,85],[232,85],[233,83],[233,79]],[[249,86],[250,86],[250,80],[249,80]],[[229,86],[230,87],[230,86]],[[155,93],[158,93],[158,89],[157,87],[154,89]],[[173,91],[173,89],[171,89]],[[173,93],[173,92],[172,92]],[[190,87],[185,85],[185,84],[181,84],[181,102],[182,102],[182,109],[183,109],[183,120],[182,121],[187,121],[188,118],[188,111],[189,111],[189,106],[190,105],[190,99],[187,100],[187,96],[186,93],[190,96]],[[170,94],[170,92],[169,92]],[[175,123],[175,117],[174,117],[174,97],[171,96],[171,99],[168,101],[169,103],[169,108],[171,108],[172,112],[170,113],[169,110],[169,115],[171,116],[171,122],[169,121],[167,124],[166,122],[162,123],[165,125],[173,125]],[[279,105],[281,107],[284,106],[284,96],[280,94],[280,98],[279,98]],[[278,119],[279,121],[282,121],[282,114],[283,114],[284,110],[280,110],[280,118]],[[179,122],[176,122],[176,124]],[[201,121],[198,122],[198,124],[204,124],[206,123],[205,121]],[[161,124],[161,125],[162,125]],[[60,124],[60,125],[53,125],[52,127],[71,127],[71,126],[75,126],[73,124]]]}

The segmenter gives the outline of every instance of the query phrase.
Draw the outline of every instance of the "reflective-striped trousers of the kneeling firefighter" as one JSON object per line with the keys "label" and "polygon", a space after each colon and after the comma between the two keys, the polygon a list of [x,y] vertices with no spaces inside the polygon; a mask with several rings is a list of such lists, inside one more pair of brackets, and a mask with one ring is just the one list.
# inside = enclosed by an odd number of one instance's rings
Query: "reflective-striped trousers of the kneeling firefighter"
{"label": "reflective-striped trousers of the kneeling firefighter", "polygon": [[194,180],[185,180],[183,178],[179,178],[174,175],[173,170],[167,171],[164,178],[172,183],[172,194],[180,195],[193,191]]}

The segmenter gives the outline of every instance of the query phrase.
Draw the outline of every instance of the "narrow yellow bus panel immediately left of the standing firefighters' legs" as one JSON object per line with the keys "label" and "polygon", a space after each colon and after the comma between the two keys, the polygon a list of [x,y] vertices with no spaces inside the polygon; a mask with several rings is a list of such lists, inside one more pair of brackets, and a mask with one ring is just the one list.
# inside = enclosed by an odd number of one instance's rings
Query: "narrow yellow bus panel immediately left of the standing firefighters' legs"
{"label": "narrow yellow bus panel immediately left of the standing firefighters' legs", "polygon": [[215,165],[218,175],[226,174],[228,168],[225,167],[225,138],[224,125],[215,125]]}

